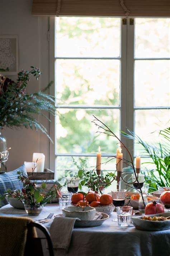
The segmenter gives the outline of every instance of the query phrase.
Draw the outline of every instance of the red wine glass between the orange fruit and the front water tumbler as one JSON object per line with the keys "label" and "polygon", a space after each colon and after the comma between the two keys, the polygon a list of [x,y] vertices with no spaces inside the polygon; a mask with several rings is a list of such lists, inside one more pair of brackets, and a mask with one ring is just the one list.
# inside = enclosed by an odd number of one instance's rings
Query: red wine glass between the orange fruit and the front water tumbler
{"label": "red wine glass between the orange fruit and the front water tumbler", "polygon": [[[115,207],[123,206],[125,203],[126,197],[126,189],[115,189],[112,190],[112,201]],[[117,221],[117,219],[113,219],[112,221]]]}

